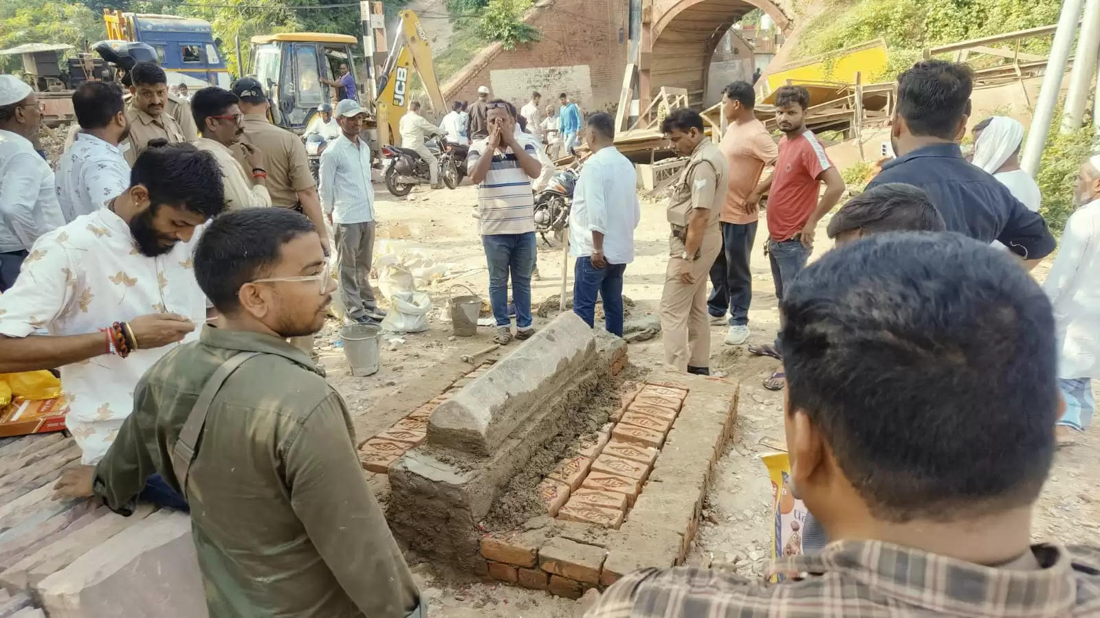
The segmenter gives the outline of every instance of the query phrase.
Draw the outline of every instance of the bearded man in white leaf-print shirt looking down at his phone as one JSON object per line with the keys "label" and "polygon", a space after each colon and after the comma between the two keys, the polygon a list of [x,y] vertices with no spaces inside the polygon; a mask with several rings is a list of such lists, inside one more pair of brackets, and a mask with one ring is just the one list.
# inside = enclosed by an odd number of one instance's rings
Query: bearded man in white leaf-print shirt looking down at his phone
{"label": "bearded man in white leaf-print shirt looking down at his phone", "polygon": [[0,373],[61,367],[84,464],[111,445],[142,374],[206,319],[190,241],[223,203],[212,156],[146,150],[130,187],[40,238],[0,296]]}

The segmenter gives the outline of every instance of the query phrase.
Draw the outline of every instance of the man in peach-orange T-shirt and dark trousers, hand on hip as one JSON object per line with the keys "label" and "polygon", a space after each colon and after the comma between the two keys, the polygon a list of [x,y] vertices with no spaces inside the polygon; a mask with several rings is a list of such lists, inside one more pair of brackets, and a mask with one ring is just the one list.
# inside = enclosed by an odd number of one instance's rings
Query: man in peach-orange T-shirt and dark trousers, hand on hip
{"label": "man in peach-orange T-shirt and dark trousers, hand on hip", "polygon": [[712,324],[726,323],[729,309],[727,345],[740,345],[749,338],[749,304],[752,300],[752,274],[749,256],[756,242],[760,218],[757,202],[749,202],[763,168],[776,161],[779,147],[763,123],[752,112],[756,92],[747,81],[735,81],[722,91],[722,113],[729,126],[718,150],[729,162],[729,183],[722,209],[722,253],[711,267],[714,289],[706,301]]}

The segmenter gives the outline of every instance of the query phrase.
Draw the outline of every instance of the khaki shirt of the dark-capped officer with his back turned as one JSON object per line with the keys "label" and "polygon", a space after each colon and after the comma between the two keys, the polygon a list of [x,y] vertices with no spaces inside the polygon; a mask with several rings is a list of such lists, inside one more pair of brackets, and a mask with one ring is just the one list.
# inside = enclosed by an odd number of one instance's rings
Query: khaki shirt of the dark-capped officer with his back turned
{"label": "khaki shirt of the dark-capped officer with his back turned", "polygon": [[293,132],[267,122],[264,114],[246,113],[243,141],[264,153],[272,206],[294,208],[298,206],[298,191],[316,186],[309,173],[306,146]]}

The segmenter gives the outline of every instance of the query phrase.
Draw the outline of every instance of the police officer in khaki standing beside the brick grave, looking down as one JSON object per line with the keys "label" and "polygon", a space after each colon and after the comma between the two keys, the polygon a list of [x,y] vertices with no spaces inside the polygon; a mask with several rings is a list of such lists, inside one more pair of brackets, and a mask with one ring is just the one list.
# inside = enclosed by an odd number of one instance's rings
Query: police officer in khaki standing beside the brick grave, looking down
{"label": "police officer in khaki standing beside the brick grave, looking down", "polygon": [[722,251],[718,218],[729,164],[703,132],[703,117],[696,111],[673,110],[661,131],[676,154],[691,157],[672,187],[667,211],[672,234],[660,305],[664,363],[681,372],[710,375],[706,283]]}

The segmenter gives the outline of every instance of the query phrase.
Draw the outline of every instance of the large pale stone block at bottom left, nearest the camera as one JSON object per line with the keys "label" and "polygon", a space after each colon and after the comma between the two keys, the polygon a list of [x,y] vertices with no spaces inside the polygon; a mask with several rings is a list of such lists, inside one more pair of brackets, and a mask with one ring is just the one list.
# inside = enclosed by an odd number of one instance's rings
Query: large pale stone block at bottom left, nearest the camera
{"label": "large pale stone block at bottom left, nearest the camera", "polygon": [[51,618],[206,618],[190,518],[157,511],[38,583]]}

